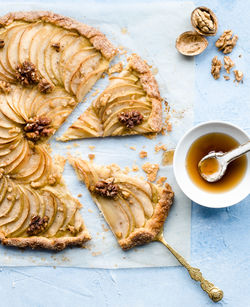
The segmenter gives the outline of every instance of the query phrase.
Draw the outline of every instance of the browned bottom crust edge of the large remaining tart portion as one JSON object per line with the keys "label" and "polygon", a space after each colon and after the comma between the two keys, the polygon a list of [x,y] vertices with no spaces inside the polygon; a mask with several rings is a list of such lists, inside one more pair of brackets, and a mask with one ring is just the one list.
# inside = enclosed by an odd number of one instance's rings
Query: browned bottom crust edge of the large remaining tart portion
{"label": "browned bottom crust edge of the large remaining tart portion", "polygon": [[61,251],[67,246],[82,246],[84,242],[91,239],[87,231],[81,232],[77,237],[62,238],[45,238],[45,237],[29,237],[29,238],[5,238],[0,233],[0,240],[3,245],[15,246],[19,248],[30,247],[32,249],[46,248]]}

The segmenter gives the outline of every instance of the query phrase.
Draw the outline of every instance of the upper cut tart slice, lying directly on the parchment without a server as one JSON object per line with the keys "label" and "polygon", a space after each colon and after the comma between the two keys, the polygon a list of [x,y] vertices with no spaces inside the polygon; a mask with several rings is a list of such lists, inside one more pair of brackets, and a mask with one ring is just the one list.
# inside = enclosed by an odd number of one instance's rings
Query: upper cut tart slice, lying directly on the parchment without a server
{"label": "upper cut tart slice, lying directly on the parchment without a server", "polygon": [[156,133],[162,106],[149,66],[133,54],[127,67],[110,77],[110,84],[59,140]]}

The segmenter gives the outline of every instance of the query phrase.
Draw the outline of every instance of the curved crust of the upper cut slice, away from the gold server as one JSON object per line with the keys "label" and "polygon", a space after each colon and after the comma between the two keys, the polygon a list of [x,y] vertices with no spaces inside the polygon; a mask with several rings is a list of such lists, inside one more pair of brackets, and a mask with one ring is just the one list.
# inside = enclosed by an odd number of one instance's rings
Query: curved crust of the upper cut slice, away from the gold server
{"label": "curved crust of the upper cut slice, away from the gold server", "polygon": [[151,98],[152,112],[148,122],[152,130],[159,132],[162,126],[162,99],[155,77],[150,71],[148,64],[135,53],[128,58],[128,67],[138,74],[144,91]]}

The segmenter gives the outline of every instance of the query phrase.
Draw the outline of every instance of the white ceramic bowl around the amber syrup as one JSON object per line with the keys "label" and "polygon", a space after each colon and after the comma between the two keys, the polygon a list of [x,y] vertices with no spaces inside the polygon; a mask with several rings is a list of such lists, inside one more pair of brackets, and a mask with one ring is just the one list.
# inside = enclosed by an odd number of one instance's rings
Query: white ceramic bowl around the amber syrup
{"label": "white ceramic bowl around the amber syrup", "polygon": [[191,180],[186,169],[186,155],[192,143],[199,137],[213,132],[230,135],[240,144],[249,141],[249,136],[239,127],[228,122],[210,121],[190,129],[177,144],[174,154],[174,174],[181,190],[194,202],[210,208],[232,206],[250,193],[250,154],[247,154],[247,170],[241,182],[233,189],[222,193],[210,193],[200,189]]}

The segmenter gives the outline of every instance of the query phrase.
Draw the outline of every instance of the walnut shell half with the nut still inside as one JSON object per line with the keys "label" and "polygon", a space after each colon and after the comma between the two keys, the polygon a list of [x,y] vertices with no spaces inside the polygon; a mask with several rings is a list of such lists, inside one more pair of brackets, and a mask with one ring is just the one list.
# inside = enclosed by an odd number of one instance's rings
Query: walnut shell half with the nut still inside
{"label": "walnut shell half with the nut still inside", "polygon": [[218,30],[217,17],[209,8],[200,6],[193,10],[191,23],[195,31],[201,35],[214,36]]}

